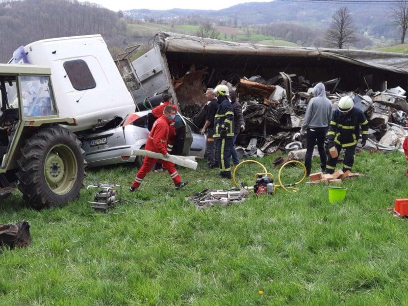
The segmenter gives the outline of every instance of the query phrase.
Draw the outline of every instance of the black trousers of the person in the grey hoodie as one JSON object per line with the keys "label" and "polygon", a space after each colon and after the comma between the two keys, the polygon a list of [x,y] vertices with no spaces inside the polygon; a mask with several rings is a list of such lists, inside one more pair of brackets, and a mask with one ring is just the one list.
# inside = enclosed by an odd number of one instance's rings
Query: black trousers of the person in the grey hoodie
{"label": "black trousers of the person in the grey hoodie", "polygon": [[310,174],[312,169],[312,156],[313,150],[317,142],[317,149],[320,155],[320,167],[322,171],[326,168],[326,151],[324,150],[324,140],[326,138],[327,127],[313,127],[308,129],[306,134],[306,157],[304,159],[304,166],[306,167],[306,173]]}

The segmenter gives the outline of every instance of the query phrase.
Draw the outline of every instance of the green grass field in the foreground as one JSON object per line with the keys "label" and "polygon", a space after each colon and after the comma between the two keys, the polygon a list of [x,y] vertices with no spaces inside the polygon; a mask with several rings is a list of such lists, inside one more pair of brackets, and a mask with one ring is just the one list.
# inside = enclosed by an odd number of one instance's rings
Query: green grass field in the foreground
{"label": "green grass field in the foreground", "polygon": [[[270,169],[273,158],[260,161]],[[131,194],[130,166],[89,170],[85,182],[123,184],[123,196],[139,204],[113,211],[121,216],[91,216],[85,191],[40,212],[15,192],[2,200],[0,223],[28,220],[33,241],[0,250],[0,304],[406,304],[408,221],[387,212],[408,193],[405,167],[400,153],[356,157],[354,171],[367,176],[344,181],[346,200],[333,205],[325,186],[303,184],[198,211],[185,196],[232,187],[217,170],[180,169],[189,181],[180,191],[167,173],[149,173]],[[243,167],[239,177],[249,183],[257,171]],[[288,170],[286,182],[296,173]]]}

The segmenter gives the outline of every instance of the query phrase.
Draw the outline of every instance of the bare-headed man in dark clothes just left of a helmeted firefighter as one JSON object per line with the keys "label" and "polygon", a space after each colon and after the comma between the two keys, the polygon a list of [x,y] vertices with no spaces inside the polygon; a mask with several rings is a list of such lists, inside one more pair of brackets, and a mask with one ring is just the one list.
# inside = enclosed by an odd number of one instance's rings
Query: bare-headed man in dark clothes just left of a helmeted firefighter
{"label": "bare-headed man in dark clothes just left of a helmeted firefighter", "polygon": [[217,160],[217,148],[215,146],[215,141],[213,138],[214,135],[214,117],[218,109],[218,100],[213,93],[212,88],[208,88],[206,91],[207,102],[207,114],[206,122],[201,129],[201,135],[204,135],[207,132],[207,164],[210,168],[218,167]]}

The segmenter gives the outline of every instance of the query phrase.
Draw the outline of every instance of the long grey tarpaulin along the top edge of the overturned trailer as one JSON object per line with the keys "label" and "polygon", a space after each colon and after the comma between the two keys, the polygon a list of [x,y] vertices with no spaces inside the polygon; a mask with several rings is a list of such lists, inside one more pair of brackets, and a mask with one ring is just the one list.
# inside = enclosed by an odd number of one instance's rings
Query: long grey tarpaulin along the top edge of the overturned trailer
{"label": "long grey tarpaulin along the top edge of the overturned trailer", "polygon": [[164,52],[327,58],[359,66],[408,74],[408,55],[352,49],[282,47],[238,43],[169,32],[159,32],[156,43]]}

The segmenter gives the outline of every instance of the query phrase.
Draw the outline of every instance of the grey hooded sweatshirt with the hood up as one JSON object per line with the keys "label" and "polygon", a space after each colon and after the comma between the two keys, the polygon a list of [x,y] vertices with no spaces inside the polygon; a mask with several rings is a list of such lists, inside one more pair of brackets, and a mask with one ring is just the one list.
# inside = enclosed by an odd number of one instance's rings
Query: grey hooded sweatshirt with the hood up
{"label": "grey hooded sweatshirt with the hood up", "polygon": [[303,128],[327,127],[331,119],[331,102],[326,98],[326,89],[323,83],[313,88],[313,95],[304,114]]}

